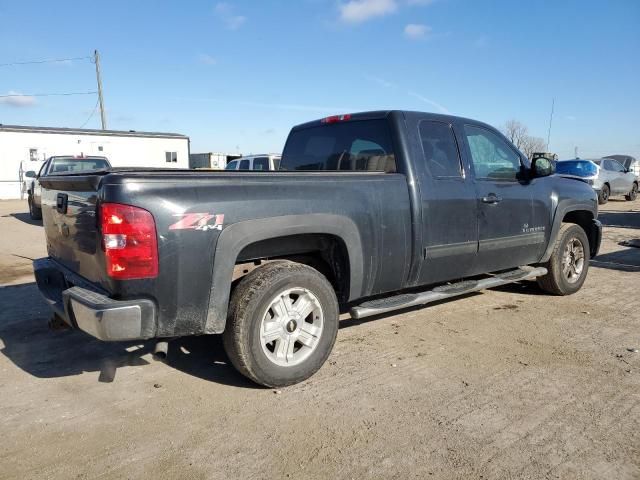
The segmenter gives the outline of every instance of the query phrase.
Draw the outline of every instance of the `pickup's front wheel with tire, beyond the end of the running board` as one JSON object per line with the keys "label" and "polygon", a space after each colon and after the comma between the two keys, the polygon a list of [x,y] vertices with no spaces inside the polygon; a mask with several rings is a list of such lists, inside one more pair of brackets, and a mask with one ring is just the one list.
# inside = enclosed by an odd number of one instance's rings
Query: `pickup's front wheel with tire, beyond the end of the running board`
{"label": "pickup's front wheel with tire, beyond the end of the running board", "polygon": [[538,277],[538,285],[553,295],[576,293],[587,278],[589,260],[589,240],[585,231],[575,223],[564,223],[558,232],[551,258],[543,265],[548,272]]}

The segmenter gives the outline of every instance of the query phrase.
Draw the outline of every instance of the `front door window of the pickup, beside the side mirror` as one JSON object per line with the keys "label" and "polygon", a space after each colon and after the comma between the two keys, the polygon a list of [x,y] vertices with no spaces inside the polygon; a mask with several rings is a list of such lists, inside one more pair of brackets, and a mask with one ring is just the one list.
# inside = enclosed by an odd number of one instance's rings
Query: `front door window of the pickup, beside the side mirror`
{"label": "front door window of the pickup, beside the side mirror", "polygon": [[516,180],[520,157],[495,133],[473,125],[464,126],[477,180]]}

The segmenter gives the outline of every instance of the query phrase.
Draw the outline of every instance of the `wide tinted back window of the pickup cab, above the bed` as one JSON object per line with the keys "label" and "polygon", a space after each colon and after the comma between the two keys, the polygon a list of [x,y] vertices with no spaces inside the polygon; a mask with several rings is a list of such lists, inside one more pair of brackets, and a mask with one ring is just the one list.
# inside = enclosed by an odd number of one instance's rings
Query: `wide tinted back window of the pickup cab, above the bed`
{"label": "wide tinted back window of the pickup cab, above the bed", "polygon": [[294,130],[280,168],[395,172],[389,125],[386,120],[361,120]]}

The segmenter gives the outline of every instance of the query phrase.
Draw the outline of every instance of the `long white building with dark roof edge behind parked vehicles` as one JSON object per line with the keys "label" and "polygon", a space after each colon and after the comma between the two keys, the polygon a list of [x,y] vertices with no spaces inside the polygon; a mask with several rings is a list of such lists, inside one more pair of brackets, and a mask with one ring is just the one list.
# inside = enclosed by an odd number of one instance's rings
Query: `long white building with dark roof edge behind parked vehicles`
{"label": "long white building with dark roof edge behind parked vehicles", "polygon": [[100,155],[114,167],[189,168],[189,137],[0,124],[0,199],[21,198],[24,172],[37,172],[54,155]]}

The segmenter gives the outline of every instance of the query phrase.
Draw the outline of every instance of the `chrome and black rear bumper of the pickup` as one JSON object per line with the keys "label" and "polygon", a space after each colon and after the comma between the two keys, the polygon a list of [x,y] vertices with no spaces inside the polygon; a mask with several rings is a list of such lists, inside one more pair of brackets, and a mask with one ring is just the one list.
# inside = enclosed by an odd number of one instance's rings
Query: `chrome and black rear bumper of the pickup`
{"label": "chrome and black rear bumper of the pickup", "polygon": [[114,300],[50,258],[33,262],[38,289],[67,324],[105,341],[142,340],[156,332],[148,299]]}

